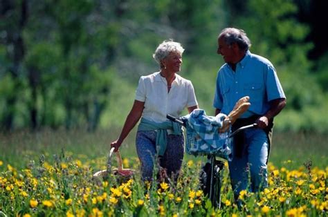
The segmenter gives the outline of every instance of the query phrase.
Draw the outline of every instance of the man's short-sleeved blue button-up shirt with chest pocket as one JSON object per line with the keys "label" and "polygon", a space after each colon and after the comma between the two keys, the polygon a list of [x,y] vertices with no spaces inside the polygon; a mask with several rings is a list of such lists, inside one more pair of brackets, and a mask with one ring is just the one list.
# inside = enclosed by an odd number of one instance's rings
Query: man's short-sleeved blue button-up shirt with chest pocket
{"label": "man's short-sleeved blue button-up shirt with chest pocket", "polygon": [[235,103],[247,95],[250,107],[241,117],[264,115],[271,100],[286,98],[273,64],[249,50],[237,63],[235,72],[228,64],[219,69],[213,106],[228,115]]}

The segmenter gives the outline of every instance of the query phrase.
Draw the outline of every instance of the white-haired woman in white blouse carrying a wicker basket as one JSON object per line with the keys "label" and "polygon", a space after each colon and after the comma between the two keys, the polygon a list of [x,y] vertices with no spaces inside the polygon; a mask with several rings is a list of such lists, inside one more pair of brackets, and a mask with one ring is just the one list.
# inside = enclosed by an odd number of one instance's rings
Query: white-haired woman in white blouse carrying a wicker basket
{"label": "white-haired woman in white blouse carrying a wicker basket", "polygon": [[184,151],[181,126],[168,121],[166,115],[179,117],[185,108],[189,113],[198,108],[192,83],[177,74],[181,70],[183,51],[181,44],[172,40],[163,41],[156,48],[153,57],[161,69],[140,77],[134,105],[120,136],[111,142],[111,147],[118,151],[141,118],[136,151],[143,180],[152,180],[156,162],[174,180],[181,169]]}

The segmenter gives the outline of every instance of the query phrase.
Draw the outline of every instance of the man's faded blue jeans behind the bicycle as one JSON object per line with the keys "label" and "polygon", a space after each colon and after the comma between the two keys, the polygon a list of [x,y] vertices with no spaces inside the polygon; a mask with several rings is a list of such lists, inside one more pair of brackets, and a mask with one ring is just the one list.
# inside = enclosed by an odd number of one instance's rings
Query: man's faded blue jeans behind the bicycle
{"label": "man's faded blue jeans behind the bicycle", "polygon": [[242,156],[233,156],[228,162],[230,182],[233,187],[235,199],[239,192],[248,189],[256,192],[268,186],[268,149],[269,142],[262,129],[247,129],[244,132],[244,145]]}

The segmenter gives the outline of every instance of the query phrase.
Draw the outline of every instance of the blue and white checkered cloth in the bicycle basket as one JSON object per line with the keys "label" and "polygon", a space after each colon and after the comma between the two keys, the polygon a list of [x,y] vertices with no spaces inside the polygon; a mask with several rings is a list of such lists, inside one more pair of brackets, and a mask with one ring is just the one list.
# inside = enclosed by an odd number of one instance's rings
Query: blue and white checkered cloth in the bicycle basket
{"label": "blue and white checkered cloth in the bicycle basket", "polygon": [[185,151],[192,155],[215,154],[226,160],[232,160],[232,139],[228,138],[230,130],[219,133],[226,115],[207,116],[202,109],[195,109],[182,117],[186,123],[187,141]]}

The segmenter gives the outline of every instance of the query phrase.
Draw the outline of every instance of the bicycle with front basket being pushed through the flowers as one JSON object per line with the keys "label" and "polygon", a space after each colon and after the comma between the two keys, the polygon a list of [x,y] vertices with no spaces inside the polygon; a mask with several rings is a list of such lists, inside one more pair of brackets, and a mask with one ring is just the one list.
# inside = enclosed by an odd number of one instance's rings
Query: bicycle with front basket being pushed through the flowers
{"label": "bicycle with front basket being pushed through the flowers", "polygon": [[[188,115],[187,115],[188,116]],[[208,160],[203,167],[200,174],[200,182],[201,189],[203,190],[204,195],[208,196],[210,201],[212,202],[212,206],[216,209],[221,208],[221,186],[222,186],[222,176],[224,171],[224,161],[217,160],[216,157],[223,158],[225,160],[231,160],[233,153],[233,136],[239,133],[240,131],[244,131],[245,129],[250,129],[257,124],[250,124],[247,126],[242,126],[239,129],[235,130],[231,133],[231,129],[219,135],[219,144],[222,144],[222,149],[218,147],[214,149],[203,149],[200,150],[199,146],[197,148],[192,149],[195,140],[199,140],[199,135],[193,131],[192,128],[188,127],[190,123],[188,123],[188,118],[181,117],[177,118],[172,115],[166,116],[168,120],[172,122],[176,122],[181,124],[187,130],[187,140],[186,140],[186,152],[192,155],[207,155]],[[218,133],[219,134],[219,133]],[[197,138],[195,138],[197,137]],[[212,146],[210,146],[212,147]]]}

